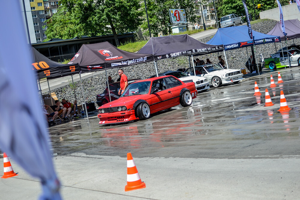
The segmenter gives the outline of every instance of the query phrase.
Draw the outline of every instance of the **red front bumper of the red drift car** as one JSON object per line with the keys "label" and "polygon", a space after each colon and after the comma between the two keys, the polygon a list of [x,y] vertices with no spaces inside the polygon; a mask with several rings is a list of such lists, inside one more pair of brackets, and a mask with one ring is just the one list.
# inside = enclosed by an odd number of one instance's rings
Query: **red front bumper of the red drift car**
{"label": "red front bumper of the red drift car", "polygon": [[116,124],[136,120],[135,111],[120,111],[98,114],[99,124]]}

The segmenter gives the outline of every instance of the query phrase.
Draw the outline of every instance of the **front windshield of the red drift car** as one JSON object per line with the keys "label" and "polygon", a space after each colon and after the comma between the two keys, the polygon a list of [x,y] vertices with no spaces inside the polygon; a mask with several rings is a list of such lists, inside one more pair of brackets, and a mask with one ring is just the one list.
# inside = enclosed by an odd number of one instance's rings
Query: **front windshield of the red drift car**
{"label": "front windshield of the red drift car", "polygon": [[125,91],[123,92],[121,97],[133,96],[133,95],[139,95],[139,94],[148,94],[150,84],[151,84],[150,81],[131,83],[125,89]]}

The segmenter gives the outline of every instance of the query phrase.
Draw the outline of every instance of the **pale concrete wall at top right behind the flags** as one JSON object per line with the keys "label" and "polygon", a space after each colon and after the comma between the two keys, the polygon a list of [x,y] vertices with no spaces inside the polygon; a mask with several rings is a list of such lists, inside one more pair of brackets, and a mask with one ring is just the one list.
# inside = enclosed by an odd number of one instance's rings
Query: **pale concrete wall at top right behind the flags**
{"label": "pale concrete wall at top right behind the flags", "polygon": [[[297,4],[288,4],[282,6],[283,19],[298,19],[300,21],[300,12]],[[260,19],[273,19],[279,21],[279,8],[273,8],[271,10],[265,10],[259,13]]]}

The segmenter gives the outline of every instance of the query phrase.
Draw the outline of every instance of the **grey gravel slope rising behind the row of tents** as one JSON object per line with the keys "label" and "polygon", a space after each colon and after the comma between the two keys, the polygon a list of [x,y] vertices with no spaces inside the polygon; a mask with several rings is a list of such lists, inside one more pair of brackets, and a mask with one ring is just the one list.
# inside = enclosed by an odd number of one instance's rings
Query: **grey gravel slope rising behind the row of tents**
{"label": "grey gravel slope rising behind the row of tents", "polygon": [[[261,33],[268,33],[272,30],[272,28],[275,26],[277,21],[274,20],[264,20],[262,22],[256,23],[252,25],[252,29],[254,31],[258,31]],[[201,42],[208,42],[211,37],[206,37],[200,40]],[[295,44],[299,44],[299,39],[295,39]],[[292,44],[293,40],[288,41],[288,45]],[[285,43],[283,43],[285,45]],[[281,49],[280,43],[276,44],[276,48]],[[250,56],[251,49],[250,47],[247,47],[248,49],[248,55]],[[256,49],[256,55],[263,54],[265,58],[267,58],[270,54],[273,54],[275,52],[275,44],[269,43],[269,44],[262,44],[255,46]],[[211,53],[203,56],[197,56],[200,60],[205,60],[206,58],[209,58],[212,63],[218,62],[218,53]],[[223,53],[220,52],[220,55],[223,55]],[[240,48],[240,49],[234,49],[230,51],[226,51],[227,61],[229,68],[231,69],[241,69],[246,68],[245,62],[247,61],[247,51],[246,48]],[[224,55],[222,58],[225,60]],[[196,59],[194,57],[194,59]],[[183,63],[183,64],[181,64]],[[178,58],[170,58],[158,61],[158,73],[164,72],[167,70],[177,70],[179,68],[187,68],[189,66],[188,64],[188,58],[185,56],[178,57]],[[152,76],[155,74],[154,64],[153,62],[145,63],[145,64],[138,64],[134,65],[132,67],[125,67],[123,68],[124,73],[127,75],[128,79],[133,78],[141,78],[146,79],[149,76]],[[249,72],[246,69],[247,72]],[[107,71],[109,76],[112,76],[113,80],[116,81],[118,78],[118,69],[112,69]],[[105,73],[92,76],[91,78],[84,79],[83,80],[83,87],[85,90],[85,96],[88,98],[88,101],[94,101],[96,102],[96,95],[100,94],[104,91],[105,88]],[[76,87],[76,96],[78,103],[83,102],[82,93],[81,93],[81,87],[80,82],[75,83]],[[58,99],[65,98],[69,100],[70,102],[73,102],[75,100],[74,97],[74,91],[71,88],[70,85],[66,85],[64,87],[58,88],[54,90]]]}

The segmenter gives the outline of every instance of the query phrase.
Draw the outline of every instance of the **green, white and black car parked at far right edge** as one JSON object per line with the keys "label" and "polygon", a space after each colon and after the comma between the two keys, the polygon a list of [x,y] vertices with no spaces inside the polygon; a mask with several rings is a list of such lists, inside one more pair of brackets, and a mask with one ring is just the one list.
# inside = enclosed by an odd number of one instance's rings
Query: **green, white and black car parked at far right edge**
{"label": "green, white and black car parked at far right edge", "polygon": [[264,65],[265,68],[274,70],[284,66],[289,67],[289,61],[291,62],[291,66],[300,66],[300,50],[289,49],[288,51],[284,51],[283,54],[282,52],[274,53],[270,58],[264,59]]}

